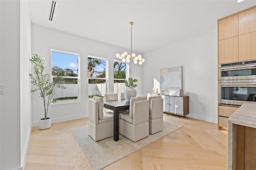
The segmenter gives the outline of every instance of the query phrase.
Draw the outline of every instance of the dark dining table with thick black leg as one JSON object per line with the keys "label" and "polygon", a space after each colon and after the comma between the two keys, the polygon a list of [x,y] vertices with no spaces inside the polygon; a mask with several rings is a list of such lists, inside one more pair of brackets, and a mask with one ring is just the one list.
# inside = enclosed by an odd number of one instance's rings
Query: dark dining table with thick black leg
{"label": "dark dining table with thick black leg", "polygon": [[130,101],[113,100],[104,101],[104,107],[114,111],[114,141],[119,140],[119,113],[130,108]]}

